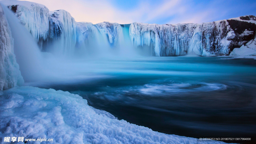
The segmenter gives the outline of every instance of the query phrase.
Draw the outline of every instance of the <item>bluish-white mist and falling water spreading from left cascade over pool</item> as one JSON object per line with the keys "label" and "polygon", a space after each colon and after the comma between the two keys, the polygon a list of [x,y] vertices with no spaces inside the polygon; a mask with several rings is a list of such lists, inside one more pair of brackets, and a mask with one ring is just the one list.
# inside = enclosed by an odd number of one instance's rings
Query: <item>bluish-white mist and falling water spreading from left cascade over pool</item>
{"label": "bluish-white mist and falling water spreading from left cascade over pool", "polygon": [[[94,32],[93,37],[84,40],[74,47],[73,51],[63,53],[62,43],[65,39],[58,39],[49,43],[41,52],[35,39],[5,6],[12,37],[14,38],[14,53],[25,81],[25,85],[38,86],[49,83],[75,83],[90,81],[99,77],[108,77],[102,71],[122,69],[122,64],[116,65],[113,61],[134,60],[143,58],[135,52],[130,38],[121,35],[119,44],[111,46],[106,35],[100,31]],[[129,34],[123,27],[124,33]],[[110,70],[112,69],[112,70]]]}

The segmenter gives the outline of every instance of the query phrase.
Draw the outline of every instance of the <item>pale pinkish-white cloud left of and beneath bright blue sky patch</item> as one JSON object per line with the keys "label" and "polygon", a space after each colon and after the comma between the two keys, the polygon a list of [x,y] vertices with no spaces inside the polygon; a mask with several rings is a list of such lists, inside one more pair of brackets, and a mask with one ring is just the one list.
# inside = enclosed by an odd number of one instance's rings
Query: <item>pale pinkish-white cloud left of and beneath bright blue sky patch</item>
{"label": "pale pinkish-white cloud left of and beneath bright blue sky patch", "polygon": [[64,9],[68,11],[76,21],[92,22],[93,24],[108,21],[127,24],[133,22],[149,22],[158,17],[173,15],[178,11],[168,11],[174,8],[180,1],[171,0],[150,5],[141,2],[135,8],[122,10],[114,7],[109,1],[88,0],[29,0],[40,3],[49,8],[50,11]]}

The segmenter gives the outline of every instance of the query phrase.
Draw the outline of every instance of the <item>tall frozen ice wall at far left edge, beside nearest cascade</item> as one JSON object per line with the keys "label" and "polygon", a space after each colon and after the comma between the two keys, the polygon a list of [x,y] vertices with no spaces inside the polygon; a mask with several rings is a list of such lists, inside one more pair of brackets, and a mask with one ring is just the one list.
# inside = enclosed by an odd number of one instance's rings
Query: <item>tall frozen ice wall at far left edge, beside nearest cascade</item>
{"label": "tall frozen ice wall at far left edge, beside nearest cascade", "polygon": [[0,5],[0,90],[22,85],[19,65],[13,49],[13,38],[3,8]]}

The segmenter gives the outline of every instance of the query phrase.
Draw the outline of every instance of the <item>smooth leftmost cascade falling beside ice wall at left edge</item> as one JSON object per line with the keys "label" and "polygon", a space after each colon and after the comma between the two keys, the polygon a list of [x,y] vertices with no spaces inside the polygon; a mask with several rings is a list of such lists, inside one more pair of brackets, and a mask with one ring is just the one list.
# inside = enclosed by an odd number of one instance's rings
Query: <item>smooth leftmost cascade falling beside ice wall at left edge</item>
{"label": "smooth leftmost cascade falling beside ice wall at left edge", "polygon": [[28,30],[19,23],[13,13],[3,6],[4,13],[9,23],[12,37],[14,38],[14,53],[19,64],[21,74],[25,81],[36,79],[45,73],[42,66],[41,52]]}

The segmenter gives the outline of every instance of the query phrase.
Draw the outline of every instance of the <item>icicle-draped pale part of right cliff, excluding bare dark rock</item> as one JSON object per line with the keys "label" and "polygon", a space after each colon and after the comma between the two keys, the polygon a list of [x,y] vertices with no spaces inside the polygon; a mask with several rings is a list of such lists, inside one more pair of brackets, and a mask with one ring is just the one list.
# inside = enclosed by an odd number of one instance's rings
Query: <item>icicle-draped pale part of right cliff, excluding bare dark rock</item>
{"label": "icicle-draped pale part of right cliff, excluding bare dark rock", "polygon": [[185,55],[192,50],[201,56],[228,55],[230,41],[222,34],[231,30],[225,20],[177,25],[132,23],[130,37],[136,47],[153,46],[156,56]]}

